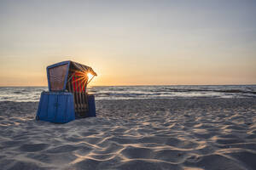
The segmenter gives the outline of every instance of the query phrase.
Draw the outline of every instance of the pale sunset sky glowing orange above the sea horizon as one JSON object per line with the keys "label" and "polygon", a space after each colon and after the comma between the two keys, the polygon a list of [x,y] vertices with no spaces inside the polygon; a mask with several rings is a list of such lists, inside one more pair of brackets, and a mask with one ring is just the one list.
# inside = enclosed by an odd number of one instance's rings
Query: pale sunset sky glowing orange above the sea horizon
{"label": "pale sunset sky glowing orange above the sea horizon", "polygon": [[256,1],[0,0],[0,86],[63,60],[96,86],[256,84]]}

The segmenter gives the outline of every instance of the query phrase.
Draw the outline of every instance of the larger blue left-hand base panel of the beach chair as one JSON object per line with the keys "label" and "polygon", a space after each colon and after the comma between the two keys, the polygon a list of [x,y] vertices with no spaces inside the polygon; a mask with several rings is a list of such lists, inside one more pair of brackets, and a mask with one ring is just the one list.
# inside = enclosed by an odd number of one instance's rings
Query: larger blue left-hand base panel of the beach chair
{"label": "larger blue left-hand base panel of the beach chair", "polygon": [[73,121],[75,119],[73,94],[42,92],[36,119],[56,123]]}

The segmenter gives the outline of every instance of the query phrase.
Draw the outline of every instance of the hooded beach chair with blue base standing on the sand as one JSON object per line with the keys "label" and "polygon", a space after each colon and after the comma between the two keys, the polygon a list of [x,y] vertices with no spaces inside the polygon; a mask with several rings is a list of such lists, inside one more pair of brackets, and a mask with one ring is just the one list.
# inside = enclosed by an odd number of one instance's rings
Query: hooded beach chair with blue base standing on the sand
{"label": "hooded beach chair with blue base standing on the sand", "polygon": [[41,94],[36,119],[70,122],[96,116],[95,98],[88,94],[88,83],[96,76],[90,66],[63,61],[47,67],[49,92]]}

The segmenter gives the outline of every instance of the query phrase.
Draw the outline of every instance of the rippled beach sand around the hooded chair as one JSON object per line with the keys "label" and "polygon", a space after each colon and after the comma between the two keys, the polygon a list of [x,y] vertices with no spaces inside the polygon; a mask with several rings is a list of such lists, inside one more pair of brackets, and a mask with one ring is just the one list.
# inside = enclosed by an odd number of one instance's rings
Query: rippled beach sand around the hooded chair
{"label": "rippled beach sand around the hooded chair", "polygon": [[98,100],[97,117],[35,121],[0,102],[0,169],[256,169],[256,99]]}

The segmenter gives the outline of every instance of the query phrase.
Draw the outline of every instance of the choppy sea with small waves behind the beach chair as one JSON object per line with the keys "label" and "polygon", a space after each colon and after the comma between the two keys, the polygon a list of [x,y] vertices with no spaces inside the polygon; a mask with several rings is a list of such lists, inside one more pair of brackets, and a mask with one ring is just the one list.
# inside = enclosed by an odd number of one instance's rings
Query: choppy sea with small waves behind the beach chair
{"label": "choppy sea with small waves behind the beach chair", "polygon": [[[99,99],[256,98],[256,85],[95,86]],[[0,87],[0,101],[38,102],[47,87]]]}

